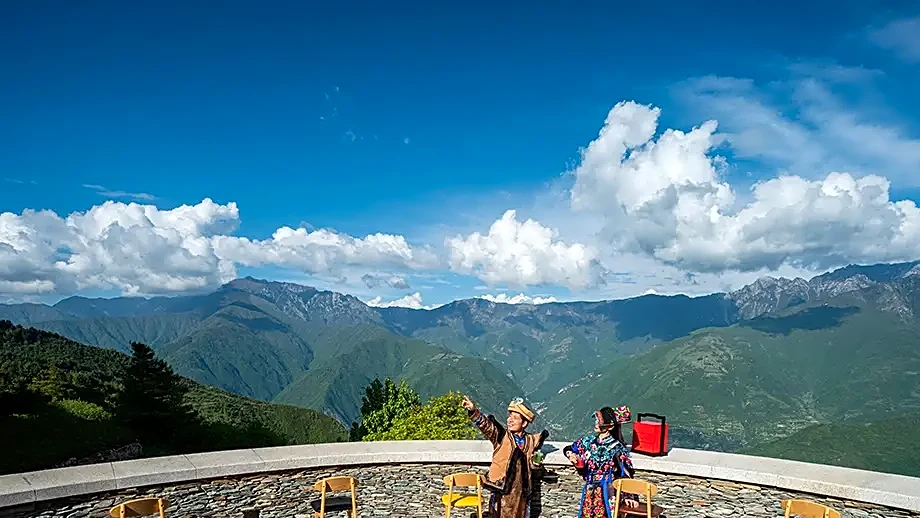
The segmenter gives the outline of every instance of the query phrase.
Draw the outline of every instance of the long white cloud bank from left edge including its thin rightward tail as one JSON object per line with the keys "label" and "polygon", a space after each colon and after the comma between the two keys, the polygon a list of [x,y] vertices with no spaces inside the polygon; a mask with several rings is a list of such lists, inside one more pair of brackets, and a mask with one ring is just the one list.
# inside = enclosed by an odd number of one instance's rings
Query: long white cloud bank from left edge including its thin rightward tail
{"label": "long white cloud bank from left edge including its thin rightward tail", "polygon": [[210,199],[170,210],[107,201],[66,217],[0,213],[0,293],[156,294],[213,288],[235,278],[238,265],[331,273],[345,265],[412,268],[434,260],[402,236],[282,227],[253,241],[230,235],[238,223],[235,203]]}

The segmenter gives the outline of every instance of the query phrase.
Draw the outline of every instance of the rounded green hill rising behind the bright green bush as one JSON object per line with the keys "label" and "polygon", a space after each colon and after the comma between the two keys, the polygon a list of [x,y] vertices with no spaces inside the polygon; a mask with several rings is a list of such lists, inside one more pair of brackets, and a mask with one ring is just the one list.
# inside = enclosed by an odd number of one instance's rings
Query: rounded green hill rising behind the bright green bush
{"label": "rounded green hill rising behind the bright green bush", "polygon": [[422,398],[462,391],[497,412],[521,394],[519,386],[484,360],[390,335],[355,343],[314,363],[275,401],[316,408],[350,424],[360,414],[364,388],[385,377],[405,379]]}

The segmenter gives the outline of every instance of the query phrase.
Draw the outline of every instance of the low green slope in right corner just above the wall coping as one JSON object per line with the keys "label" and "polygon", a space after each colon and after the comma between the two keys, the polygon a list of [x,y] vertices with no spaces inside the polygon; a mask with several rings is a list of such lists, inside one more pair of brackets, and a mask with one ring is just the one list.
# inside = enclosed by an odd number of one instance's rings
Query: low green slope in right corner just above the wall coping
{"label": "low green slope in right corner just above the wall coping", "polygon": [[920,415],[813,425],[739,453],[920,477]]}

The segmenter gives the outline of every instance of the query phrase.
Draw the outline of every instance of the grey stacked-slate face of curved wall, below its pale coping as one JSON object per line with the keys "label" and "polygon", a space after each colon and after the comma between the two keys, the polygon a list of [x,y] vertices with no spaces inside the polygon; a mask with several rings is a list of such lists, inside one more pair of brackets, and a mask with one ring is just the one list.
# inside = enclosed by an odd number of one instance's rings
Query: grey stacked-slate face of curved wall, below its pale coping
{"label": "grey stacked-slate face of curved wall, below its pale coping", "polygon": [[[324,477],[351,475],[359,483],[359,516],[437,518],[444,516],[440,495],[447,488],[443,477],[464,471],[484,473],[485,467],[404,464],[298,470],[76,497],[39,503],[35,507],[0,509],[0,517],[101,518],[108,516],[108,510],[118,502],[143,495],[158,495],[170,502],[166,512],[169,518],[241,518],[243,510],[252,507],[260,509],[260,518],[312,518],[310,500],[319,494],[310,486]],[[581,479],[571,468],[554,471],[559,475],[558,482],[545,482],[538,486],[532,518],[578,516]],[[638,472],[636,478],[649,480],[658,486],[659,493],[653,500],[664,507],[667,518],[781,517],[780,501],[790,497],[828,504],[848,518],[920,518],[920,514],[907,511],[732,482],[648,472]],[[469,510],[462,509],[454,511],[453,516],[466,518],[471,515]]]}

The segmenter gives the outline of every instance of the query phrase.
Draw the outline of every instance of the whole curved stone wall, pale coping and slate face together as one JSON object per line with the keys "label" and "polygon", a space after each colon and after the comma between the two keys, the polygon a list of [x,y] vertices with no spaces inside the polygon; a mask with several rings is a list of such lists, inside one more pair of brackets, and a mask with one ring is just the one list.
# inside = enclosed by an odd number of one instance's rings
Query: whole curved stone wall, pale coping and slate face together
{"label": "whole curved stone wall, pale coping and slate face together", "polygon": [[[564,444],[551,446],[559,451],[546,464],[559,478],[540,486],[534,518],[576,516],[581,481],[561,454]],[[5,475],[0,516],[101,517],[116,502],[157,494],[170,500],[168,516],[242,516],[258,507],[262,517],[309,517],[310,485],[333,474],[359,479],[361,516],[443,516],[443,476],[482,472],[490,454],[484,441],[337,443]],[[659,486],[668,517],[781,516],[779,502],[794,496],[847,516],[920,517],[920,479],[912,477],[679,449],[634,461],[637,476]]]}

